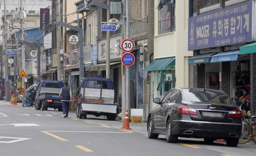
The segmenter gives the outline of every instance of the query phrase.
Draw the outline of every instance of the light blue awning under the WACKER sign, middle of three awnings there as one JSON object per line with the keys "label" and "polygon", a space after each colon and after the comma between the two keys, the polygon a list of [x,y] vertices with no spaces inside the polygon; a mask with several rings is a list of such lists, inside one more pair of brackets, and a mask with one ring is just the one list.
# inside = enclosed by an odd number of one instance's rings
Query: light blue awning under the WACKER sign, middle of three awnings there
{"label": "light blue awning under the WACKER sign, middle of three awnings there", "polygon": [[230,51],[230,52],[221,52],[219,54],[213,55],[211,63],[214,62],[225,62],[225,61],[236,61],[238,58],[240,50]]}

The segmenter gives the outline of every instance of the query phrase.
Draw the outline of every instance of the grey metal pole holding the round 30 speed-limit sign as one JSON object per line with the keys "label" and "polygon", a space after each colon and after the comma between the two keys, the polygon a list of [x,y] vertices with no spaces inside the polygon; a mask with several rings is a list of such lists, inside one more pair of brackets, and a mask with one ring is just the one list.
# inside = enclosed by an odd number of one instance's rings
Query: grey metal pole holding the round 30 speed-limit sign
{"label": "grey metal pole holding the round 30 speed-limit sign", "polygon": [[[126,39],[130,38],[130,18],[129,18],[129,0],[125,1],[126,5]],[[126,66],[126,110],[130,118],[130,67]]]}

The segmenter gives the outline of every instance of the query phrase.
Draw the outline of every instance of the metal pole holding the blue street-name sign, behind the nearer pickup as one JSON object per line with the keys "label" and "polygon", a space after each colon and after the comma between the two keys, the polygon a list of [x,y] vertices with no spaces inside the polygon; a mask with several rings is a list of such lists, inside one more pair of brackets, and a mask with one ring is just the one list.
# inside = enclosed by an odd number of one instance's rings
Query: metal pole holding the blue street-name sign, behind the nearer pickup
{"label": "metal pole holding the blue street-name sign, behind the nearer pickup", "polygon": [[[107,2],[110,5],[110,0]],[[107,21],[110,20],[110,10],[107,10]],[[107,45],[106,45],[106,78],[110,78],[110,31],[107,31]]]}

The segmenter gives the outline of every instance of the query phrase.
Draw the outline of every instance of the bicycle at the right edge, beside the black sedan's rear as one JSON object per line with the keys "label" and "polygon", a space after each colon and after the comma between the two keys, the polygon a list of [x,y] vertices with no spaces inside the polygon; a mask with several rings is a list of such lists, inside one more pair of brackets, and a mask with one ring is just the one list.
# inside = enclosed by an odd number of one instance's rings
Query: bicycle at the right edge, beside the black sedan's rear
{"label": "bicycle at the right edge, beside the black sedan's rear", "polygon": [[[256,116],[250,116],[250,111],[247,114],[243,111],[242,112],[242,120],[243,120],[243,128],[241,138],[239,139],[239,144],[245,144],[252,140],[256,143]],[[245,117],[248,117],[247,119]],[[253,133],[253,134],[252,134]]]}

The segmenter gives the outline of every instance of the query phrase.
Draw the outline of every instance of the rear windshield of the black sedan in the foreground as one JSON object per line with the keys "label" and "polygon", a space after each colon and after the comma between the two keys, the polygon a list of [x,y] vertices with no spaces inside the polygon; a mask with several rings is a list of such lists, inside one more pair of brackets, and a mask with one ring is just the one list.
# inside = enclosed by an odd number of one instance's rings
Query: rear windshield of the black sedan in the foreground
{"label": "rear windshield of the black sedan in the foreground", "polygon": [[223,92],[198,89],[182,91],[182,101],[233,104],[230,98]]}

